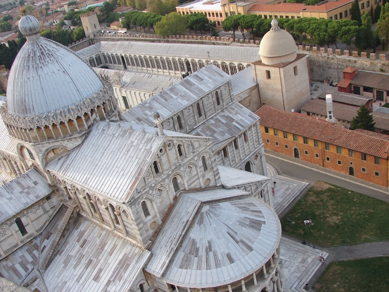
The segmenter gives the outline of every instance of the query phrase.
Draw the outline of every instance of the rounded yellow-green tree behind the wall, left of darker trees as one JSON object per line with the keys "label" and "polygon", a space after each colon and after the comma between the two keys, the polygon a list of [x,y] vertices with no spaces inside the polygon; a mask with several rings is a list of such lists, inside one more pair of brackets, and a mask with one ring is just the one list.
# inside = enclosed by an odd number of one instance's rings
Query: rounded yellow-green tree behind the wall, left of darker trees
{"label": "rounded yellow-green tree behind the wall, left of darker trees", "polygon": [[185,17],[177,12],[171,12],[165,15],[156,24],[155,31],[159,36],[183,35],[188,28],[188,22]]}

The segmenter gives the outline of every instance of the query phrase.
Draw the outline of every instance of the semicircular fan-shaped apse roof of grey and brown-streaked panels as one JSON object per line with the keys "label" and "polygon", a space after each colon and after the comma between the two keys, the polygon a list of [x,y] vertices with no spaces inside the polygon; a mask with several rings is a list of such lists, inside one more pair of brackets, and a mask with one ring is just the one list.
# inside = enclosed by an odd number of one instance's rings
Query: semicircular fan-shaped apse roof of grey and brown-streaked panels
{"label": "semicircular fan-shaped apse roof of grey and brown-streaked panels", "polygon": [[145,270],[180,287],[227,285],[262,267],[280,239],[274,210],[245,191],[181,194]]}

